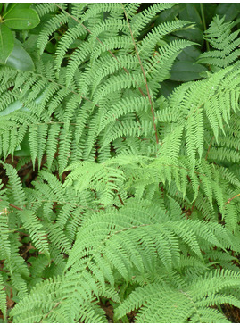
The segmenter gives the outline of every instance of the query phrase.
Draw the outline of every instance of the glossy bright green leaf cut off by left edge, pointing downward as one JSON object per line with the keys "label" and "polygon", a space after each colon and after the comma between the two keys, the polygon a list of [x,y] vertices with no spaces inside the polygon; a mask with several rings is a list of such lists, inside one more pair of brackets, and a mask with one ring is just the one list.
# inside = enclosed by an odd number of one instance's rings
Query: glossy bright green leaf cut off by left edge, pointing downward
{"label": "glossy bright green leaf cut off by left edge, pointing downward", "polygon": [[12,31],[0,24],[0,63],[5,63],[14,46]]}

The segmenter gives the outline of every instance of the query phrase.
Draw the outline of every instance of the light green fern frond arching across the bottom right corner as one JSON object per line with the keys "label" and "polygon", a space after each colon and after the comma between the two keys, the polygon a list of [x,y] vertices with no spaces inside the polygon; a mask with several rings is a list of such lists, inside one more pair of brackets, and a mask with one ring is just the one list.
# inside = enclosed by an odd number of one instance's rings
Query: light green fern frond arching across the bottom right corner
{"label": "light green fern frond arching across the bottom right corner", "polygon": [[[220,279],[223,280],[221,284]],[[235,286],[238,282],[239,275],[236,275],[236,273],[222,271],[222,274],[220,274],[219,271],[216,271],[215,273],[207,272],[204,278],[198,279],[195,284],[186,288],[174,289],[162,285],[138,287],[117,308],[117,317],[120,319],[125,313],[140,308],[136,318],[136,321],[139,322],[166,322],[167,320],[184,322],[187,319],[193,322],[203,322],[209,318],[211,319],[213,315],[222,322],[225,318],[217,311],[211,312],[211,309],[207,307],[218,304],[218,302],[227,303],[229,301],[238,306],[239,300],[235,296],[216,295],[223,287]],[[213,291],[210,293],[207,290],[208,294],[206,294],[206,291],[200,289],[201,284],[206,284]],[[206,295],[208,297],[204,298]],[[152,304],[149,304],[149,301]],[[144,307],[142,307],[143,305]],[[169,305],[172,306],[171,309],[167,307]]]}

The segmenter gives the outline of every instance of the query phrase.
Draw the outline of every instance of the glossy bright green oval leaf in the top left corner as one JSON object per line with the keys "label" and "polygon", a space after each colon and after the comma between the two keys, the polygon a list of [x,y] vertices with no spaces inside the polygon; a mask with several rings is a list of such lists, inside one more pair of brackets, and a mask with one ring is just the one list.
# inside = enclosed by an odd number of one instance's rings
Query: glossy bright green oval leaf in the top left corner
{"label": "glossy bright green oval leaf in the top left corner", "polygon": [[4,15],[4,23],[11,29],[33,29],[40,22],[37,12],[17,6]]}

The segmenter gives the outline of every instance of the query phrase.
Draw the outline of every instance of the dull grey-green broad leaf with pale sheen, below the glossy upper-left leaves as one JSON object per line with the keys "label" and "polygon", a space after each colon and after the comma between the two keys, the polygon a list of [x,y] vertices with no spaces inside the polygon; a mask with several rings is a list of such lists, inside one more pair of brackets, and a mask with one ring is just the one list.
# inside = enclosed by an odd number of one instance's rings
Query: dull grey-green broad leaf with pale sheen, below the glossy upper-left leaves
{"label": "dull grey-green broad leaf with pale sheen, below the glossy upper-left leaves", "polygon": [[21,71],[33,71],[34,63],[27,51],[21,46],[21,42],[15,41],[12,53],[6,63],[9,67]]}

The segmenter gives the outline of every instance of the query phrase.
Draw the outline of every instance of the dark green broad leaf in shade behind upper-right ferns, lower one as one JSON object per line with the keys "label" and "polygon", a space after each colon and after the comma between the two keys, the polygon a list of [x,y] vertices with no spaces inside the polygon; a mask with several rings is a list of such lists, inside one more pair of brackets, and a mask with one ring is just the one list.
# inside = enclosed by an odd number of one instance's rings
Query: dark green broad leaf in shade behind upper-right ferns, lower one
{"label": "dark green broad leaf in shade behind upper-right ferns, lower one", "polygon": [[178,61],[174,63],[170,74],[170,80],[175,81],[191,81],[200,79],[199,72],[205,71],[206,68],[202,64],[194,64],[190,61]]}

